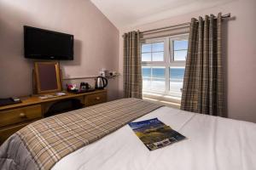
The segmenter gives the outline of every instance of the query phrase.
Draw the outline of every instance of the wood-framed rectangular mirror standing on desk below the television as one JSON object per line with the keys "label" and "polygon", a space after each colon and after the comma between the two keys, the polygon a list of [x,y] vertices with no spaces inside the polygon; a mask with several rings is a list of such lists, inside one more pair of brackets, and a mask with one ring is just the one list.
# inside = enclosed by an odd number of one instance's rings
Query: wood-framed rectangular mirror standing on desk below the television
{"label": "wood-framed rectangular mirror standing on desk below the television", "polygon": [[61,91],[60,67],[57,62],[35,62],[38,94]]}

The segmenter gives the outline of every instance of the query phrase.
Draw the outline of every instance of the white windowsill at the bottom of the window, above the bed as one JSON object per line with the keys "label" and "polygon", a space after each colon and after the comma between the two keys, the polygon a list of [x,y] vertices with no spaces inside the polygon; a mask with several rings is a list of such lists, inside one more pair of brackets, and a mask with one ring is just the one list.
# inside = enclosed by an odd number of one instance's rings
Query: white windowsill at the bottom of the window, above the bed
{"label": "white windowsill at the bottom of the window, above the bed", "polygon": [[153,101],[161,105],[170,106],[176,109],[180,108],[180,98],[172,97],[166,94],[153,94],[153,93],[143,92],[143,99],[148,101]]}

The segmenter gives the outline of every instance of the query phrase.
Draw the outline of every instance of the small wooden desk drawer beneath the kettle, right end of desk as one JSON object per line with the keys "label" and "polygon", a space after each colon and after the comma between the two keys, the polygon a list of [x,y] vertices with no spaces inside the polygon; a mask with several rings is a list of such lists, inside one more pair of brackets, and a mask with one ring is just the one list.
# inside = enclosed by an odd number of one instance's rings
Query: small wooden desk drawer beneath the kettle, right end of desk
{"label": "small wooden desk drawer beneath the kettle, right end of desk", "polygon": [[90,94],[85,96],[85,106],[97,105],[107,102],[107,93]]}

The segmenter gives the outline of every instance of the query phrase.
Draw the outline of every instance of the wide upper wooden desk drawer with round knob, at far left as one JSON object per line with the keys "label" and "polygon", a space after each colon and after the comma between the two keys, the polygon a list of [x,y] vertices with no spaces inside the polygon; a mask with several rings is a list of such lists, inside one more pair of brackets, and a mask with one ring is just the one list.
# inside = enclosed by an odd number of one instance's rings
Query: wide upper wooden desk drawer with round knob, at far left
{"label": "wide upper wooden desk drawer with round knob, at far left", "polygon": [[0,127],[6,127],[40,117],[42,117],[41,105],[32,105],[9,111],[0,111]]}

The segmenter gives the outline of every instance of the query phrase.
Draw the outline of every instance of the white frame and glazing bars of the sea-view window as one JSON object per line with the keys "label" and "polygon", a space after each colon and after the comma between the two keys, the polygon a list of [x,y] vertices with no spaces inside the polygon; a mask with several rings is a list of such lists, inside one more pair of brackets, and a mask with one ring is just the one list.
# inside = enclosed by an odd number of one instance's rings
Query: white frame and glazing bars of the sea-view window
{"label": "white frame and glazing bars of the sea-view window", "polygon": [[[141,42],[141,47],[145,43],[156,43],[156,42],[164,42],[164,61],[142,61],[142,66],[163,66],[166,68],[166,88],[164,91],[159,90],[148,90],[143,89],[143,97],[147,97],[150,99],[161,99],[161,100],[167,100],[174,103],[180,103],[180,98],[174,97],[172,93],[170,92],[170,67],[184,67],[186,64],[186,61],[175,61],[174,60],[174,44],[173,41],[175,40],[188,40],[189,39],[189,33],[184,34],[178,34],[175,36],[168,36],[168,37],[158,37],[158,38],[150,38],[145,39],[143,42]],[[152,59],[152,55],[151,55]]]}

